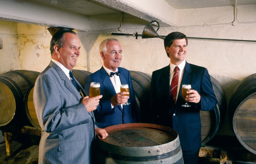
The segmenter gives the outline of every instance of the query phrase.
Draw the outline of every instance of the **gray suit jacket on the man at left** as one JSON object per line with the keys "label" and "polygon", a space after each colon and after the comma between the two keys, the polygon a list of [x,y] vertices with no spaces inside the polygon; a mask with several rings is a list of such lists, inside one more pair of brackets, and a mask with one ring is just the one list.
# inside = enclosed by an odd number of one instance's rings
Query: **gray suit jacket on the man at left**
{"label": "gray suit jacket on the man at left", "polygon": [[91,163],[93,112],[87,112],[82,96],[52,61],[38,75],[33,99],[42,128],[38,163]]}

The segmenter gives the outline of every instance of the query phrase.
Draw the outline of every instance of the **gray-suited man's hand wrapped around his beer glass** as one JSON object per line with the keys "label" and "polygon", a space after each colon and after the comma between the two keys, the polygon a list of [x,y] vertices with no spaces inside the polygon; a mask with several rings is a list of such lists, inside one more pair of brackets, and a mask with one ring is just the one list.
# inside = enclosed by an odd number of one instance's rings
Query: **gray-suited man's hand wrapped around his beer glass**
{"label": "gray-suited man's hand wrapped around his beer glass", "polygon": [[100,102],[100,98],[102,97],[102,95],[100,96],[96,96],[96,97],[89,97],[89,96],[85,96],[81,103],[84,104],[84,106],[86,107],[88,112],[94,111],[97,107],[97,105],[99,105]]}

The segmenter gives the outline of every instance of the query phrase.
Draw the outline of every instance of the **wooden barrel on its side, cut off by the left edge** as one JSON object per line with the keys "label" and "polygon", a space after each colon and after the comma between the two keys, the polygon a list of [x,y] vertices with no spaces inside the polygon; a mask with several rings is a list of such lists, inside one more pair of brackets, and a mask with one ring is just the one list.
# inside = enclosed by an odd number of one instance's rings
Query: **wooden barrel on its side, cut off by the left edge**
{"label": "wooden barrel on its side, cut off by the left edge", "polygon": [[0,75],[0,126],[19,128],[27,123],[23,106],[27,89],[36,82],[39,72],[15,70]]}

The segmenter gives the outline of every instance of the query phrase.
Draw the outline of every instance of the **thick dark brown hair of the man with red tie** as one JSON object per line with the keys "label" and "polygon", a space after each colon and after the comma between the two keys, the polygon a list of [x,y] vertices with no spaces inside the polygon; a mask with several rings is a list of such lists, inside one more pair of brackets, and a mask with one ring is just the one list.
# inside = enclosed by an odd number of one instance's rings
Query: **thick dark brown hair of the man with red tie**
{"label": "thick dark brown hair of the man with red tie", "polygon": [[[185,34],[181,32],[171,32],[164,38],[164,49],[165,47],[170,47],[175,39],[186,39],[188,45],[188,38]],[[170,58],[169,53],[167,53],[167,56]]]}

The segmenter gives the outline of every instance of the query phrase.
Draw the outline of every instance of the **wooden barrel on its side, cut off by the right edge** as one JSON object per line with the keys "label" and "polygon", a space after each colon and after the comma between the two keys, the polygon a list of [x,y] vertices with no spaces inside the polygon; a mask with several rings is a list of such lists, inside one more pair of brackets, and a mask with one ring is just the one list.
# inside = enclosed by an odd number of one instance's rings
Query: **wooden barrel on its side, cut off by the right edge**
{"label": "wooden barrel on its side, cut off by the right edge", "polygon": [[244,78],[234,89],[228,116],[238,141],[256,154],[256,74]]}

